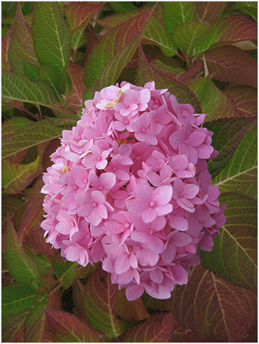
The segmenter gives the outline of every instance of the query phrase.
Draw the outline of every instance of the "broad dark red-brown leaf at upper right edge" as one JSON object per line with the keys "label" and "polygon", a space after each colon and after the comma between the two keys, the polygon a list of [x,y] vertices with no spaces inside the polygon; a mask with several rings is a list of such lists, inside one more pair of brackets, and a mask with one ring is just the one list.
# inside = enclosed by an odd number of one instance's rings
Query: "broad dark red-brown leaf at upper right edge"
{"label": "broad dark red-brown leaf at upper right edge", "polygon": [[234,46],[220,46],[204,54],[209,74],[220,81],[257,86],[257,63]]}

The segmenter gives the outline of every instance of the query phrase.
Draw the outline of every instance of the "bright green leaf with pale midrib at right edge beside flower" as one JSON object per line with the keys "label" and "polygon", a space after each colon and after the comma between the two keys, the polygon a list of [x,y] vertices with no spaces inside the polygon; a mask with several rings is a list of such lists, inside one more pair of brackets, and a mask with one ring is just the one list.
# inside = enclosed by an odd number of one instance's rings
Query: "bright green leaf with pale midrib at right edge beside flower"
{"label": "bright green leaf with pale midrib at right edge beside flower", "polygon": [[245,133],[224,170],[213,179],[220,192],[236,192],[257,198],[257,123]]}

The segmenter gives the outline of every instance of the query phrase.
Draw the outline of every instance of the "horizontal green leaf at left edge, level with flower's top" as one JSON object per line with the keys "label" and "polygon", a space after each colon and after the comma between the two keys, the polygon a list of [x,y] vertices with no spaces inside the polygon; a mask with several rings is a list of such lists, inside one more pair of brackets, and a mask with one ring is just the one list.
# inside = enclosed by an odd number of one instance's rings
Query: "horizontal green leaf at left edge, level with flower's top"
{"label": "horizontal green leaf at left edge, level with flower's top", "polygon": [[41,81],[33,83],[27,76],[2,72],[2,99],[28,102],[36,105],[55,105],[56,99],[50,86]]}

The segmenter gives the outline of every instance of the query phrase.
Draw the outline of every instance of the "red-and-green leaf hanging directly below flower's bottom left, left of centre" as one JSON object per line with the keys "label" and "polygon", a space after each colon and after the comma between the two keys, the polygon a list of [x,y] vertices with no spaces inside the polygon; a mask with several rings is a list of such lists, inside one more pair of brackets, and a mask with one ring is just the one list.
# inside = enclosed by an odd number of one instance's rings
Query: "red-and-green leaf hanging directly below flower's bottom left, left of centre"
{"label": "red-and-green leaf hanging directly below flower's bottom left, left of centre", "polygon": [[115,315],[118,287],[112,284],[111,275],[99,265],[89,277],[84,289],[84,309],[88,321],[95,329],[105,331],[109,337],[118,337],[124,323]]}

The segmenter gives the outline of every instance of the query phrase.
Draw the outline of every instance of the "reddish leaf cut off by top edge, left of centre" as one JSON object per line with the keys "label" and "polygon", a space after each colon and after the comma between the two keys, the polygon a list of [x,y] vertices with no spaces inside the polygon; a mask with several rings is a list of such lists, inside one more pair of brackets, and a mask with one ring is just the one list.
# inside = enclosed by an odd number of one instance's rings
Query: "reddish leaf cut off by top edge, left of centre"
{"label": "reddish leaf cut off by top edge, left of centre", "polygon": [[70,34],[86,25],[91,16],[102,7],[102,3],[72,2],[65,8],[65,16],[69,24]]}

